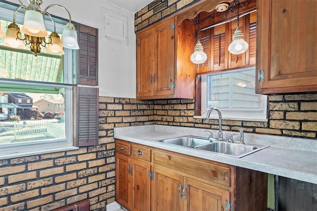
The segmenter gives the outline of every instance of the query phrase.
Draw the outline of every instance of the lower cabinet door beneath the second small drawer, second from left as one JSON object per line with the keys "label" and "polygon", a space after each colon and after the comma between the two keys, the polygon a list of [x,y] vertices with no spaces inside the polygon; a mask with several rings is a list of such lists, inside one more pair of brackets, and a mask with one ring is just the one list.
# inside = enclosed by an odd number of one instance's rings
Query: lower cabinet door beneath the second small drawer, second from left
{"label": "lower cabinet door beneath the second small drawer, second from left", "polygon": [[149,172],[151,165],[145,162],[132,161],[131,177],[132,210],[149,211],[151,206],[151,178]]}

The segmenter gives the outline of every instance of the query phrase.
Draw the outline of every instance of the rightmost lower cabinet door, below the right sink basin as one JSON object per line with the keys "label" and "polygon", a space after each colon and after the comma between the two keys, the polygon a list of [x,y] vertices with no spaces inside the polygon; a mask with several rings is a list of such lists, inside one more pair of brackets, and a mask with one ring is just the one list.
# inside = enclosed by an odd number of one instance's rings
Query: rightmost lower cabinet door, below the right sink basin
{"label": "rightmost lower cabinet door, below the right sink basin", "polygon": [[225,200],[230,202],[230,192],[184,178],[184,211],[224,211]]}

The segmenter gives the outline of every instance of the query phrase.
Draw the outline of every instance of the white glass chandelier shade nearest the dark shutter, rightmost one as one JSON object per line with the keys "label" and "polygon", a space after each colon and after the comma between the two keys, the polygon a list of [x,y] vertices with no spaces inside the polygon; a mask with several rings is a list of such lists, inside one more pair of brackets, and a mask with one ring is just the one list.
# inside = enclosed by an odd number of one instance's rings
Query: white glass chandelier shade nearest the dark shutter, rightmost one
{"label": "white glass chandelier shade nearest the dark shutter, rightmost one", "polygon": [[62,45],[70,49],[79,49],[77,43],[77,33],[72,23],[67,23],[63,30]]}

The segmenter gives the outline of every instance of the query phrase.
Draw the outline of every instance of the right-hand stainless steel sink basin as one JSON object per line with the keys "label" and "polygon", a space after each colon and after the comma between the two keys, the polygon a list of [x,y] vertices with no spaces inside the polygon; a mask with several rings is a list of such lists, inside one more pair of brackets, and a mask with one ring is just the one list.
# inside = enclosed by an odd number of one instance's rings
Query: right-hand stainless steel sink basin
{"label": "right-hand stainless steel sink basin", "polygon": [[266,147],[268,146],[245,145],[230,142],[212,142],[209,144],[196,146],[195,148],[241,158]]}

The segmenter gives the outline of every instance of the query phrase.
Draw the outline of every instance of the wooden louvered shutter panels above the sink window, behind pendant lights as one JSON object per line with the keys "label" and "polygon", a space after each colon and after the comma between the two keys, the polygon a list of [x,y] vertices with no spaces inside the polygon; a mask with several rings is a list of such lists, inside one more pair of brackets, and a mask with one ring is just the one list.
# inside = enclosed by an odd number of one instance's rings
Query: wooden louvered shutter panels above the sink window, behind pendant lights
{"label": "wooden louvered shutter panels above the sink window, behind pendant lights", "polygon": [[[205,24],[206,25],[206,24]],[[196,72],[208,73],[232,68],[240,68],[256,64],[256,26],[257,12],[252,12],[239,19],[239,29],[244,34],[244,39],[249,43],[245,53],[234,55],[228,51],[232,36],[236,30],[237,22],[233,20],[228,23],[207,27],[199,33],[207,61],[197,65]]]}

